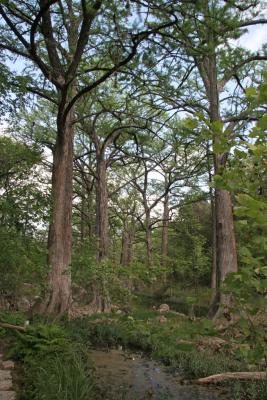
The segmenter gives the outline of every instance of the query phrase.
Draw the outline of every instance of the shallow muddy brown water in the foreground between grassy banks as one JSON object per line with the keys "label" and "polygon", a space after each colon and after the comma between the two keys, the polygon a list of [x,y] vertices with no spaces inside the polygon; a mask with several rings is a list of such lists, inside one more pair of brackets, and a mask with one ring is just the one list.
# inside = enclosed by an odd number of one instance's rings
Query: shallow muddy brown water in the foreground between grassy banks
{"label": "shallow muddy brown water in the foreground between grassy banks", "polygon": [[182,385],[167,367],[120,350],[91,350],[97,385],[105,400],[224,400],[214,389]]}

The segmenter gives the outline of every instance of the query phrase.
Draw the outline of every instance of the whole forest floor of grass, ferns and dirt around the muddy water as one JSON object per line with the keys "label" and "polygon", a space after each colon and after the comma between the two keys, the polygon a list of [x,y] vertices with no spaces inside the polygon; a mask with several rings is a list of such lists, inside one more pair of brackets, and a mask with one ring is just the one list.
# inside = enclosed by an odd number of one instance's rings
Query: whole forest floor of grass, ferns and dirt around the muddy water
{"label": "whole forest floor of grass, ferns and dirt around the muddy water", "polygon": [[[110,397],[110,391],[104,395],[107,391],[103,382],[100,387],[97,385],[92,351],[97,357],[99,349],[115,349],[113,351],[122,355],[130,352],[138,354],[146,364],[156,362],[167,366],[167,374],[176,376],[177,383],[185,386],[214,374],[266,371],[263,355],[254,357],[258,338],[253,337],[243,323],[218,330],[205,317],[172,310],[160,312],[158,305],[152,305],[154,299],[147,300],[145,304],[141,296],[131,309],[121,307],[110,314],[96,314],[60,323],[35,318],[25,333],[0,330],[3,337],[9,337],[11,356],[21,366],[19,400],[130,398],[122,392],[120,397],[118,393]],[[203,295],[199,307],[194,310],[195,314],[204,313],[205,302]],[[182,303],[179,309],[182,309]],[[183,311],[189,312],[190,309],[190,306],[183,305]],[[5,318],[6,322],[23,325],[27,316],[7,314]],[[256,323],[259,332],[266,333],[266,321],[259,319]],[[115,358],[122,355],[117,354]],[[145,367],[140,364],[140,368]],[[104,373],[104,370],[100,371]],[[233,400],[266,400],[266,380],[227,381],[214,387],[220,389],[223,396],[220,398],[223,399],[228,398],[230,390]],[[53,397],[55,392],[57,396]],[[40,393],[42,397],[38,397]],[[198,399],[197,395],[192,398]]]}

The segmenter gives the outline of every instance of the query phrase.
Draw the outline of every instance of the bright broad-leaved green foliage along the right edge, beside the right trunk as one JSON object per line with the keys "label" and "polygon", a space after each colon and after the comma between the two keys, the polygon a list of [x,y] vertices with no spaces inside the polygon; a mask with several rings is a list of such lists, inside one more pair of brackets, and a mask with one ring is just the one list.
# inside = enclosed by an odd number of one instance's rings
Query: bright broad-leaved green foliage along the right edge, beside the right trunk
{"label": "bright broad-leaved green foliage along the right edge, beside the right trunk", "polygon": [[[266,82],[258,91],[247,91],[251,107],[257,109],[266,104],[265,91]],[[234,213],[240,266],[237,273],[226,277],[225,292],[232,293],[234,312],[241,316],[240,328],[247,346],[239,349],[239,355],[259,368],[267,360],[265,333],[257,323],[267,309],[266,131],[263,116],[252,128],[247,142],[242,142],[243,150],[236,150],[232,171],[223,177],[236,193]]]}

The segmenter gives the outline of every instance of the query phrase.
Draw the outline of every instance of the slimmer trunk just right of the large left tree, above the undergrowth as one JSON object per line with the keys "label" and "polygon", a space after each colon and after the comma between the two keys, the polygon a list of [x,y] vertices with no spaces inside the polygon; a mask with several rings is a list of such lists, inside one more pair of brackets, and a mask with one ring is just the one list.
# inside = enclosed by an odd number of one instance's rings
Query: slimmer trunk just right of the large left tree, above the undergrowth
{"label": "slimmer trunk just right of the large left tree, above the undergrowth", "polygon": [[108,256],[108,190],[107,163],[100,158],[97,160],[96,183],[96,234],[98,238],[98,261]]}

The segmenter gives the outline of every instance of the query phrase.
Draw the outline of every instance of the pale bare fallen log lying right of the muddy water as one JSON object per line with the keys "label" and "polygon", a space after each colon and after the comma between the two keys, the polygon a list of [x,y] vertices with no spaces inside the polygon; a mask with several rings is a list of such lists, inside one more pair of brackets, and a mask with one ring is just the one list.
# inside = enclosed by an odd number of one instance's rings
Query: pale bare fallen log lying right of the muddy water
{"label": "pale bare fallen log lying right of the muddy water", "polygon": [[251,381],[259,379],[267,379],[267,372],[225,372],[223,374],[210,375],[205,378],[196,379],[194,383],[204,385],[227,380]]}

